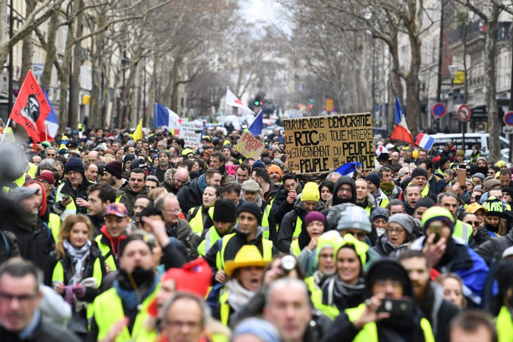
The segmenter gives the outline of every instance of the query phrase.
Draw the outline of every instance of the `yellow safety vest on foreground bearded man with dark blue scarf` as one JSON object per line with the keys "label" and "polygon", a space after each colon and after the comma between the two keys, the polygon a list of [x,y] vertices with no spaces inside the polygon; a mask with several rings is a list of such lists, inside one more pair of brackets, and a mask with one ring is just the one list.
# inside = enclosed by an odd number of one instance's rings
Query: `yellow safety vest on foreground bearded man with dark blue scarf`
{"label": "yellow safety vest on foreground bearded man with dark blue scarf", "polygon": [[[115,342],[148,342],[156,339],[156,331],[147,330],[145,322],[149,318],[148,307],[155,298],[155,294],[159,291],[159,287],[146,297],[142,303],[141,310],[135,317],[135,322],[132,328],[132,334],[128,331],[125,326],[121,333],[117,335]],[[116,293],[116,289],[111,288],[101,295],[97,296],[93,303],[93,313],[96,325],[98,326],[98,340],[101,340],[107,336],[110,328],[117,322],[125,317],[123,311],[123,303],[121,298]]]}

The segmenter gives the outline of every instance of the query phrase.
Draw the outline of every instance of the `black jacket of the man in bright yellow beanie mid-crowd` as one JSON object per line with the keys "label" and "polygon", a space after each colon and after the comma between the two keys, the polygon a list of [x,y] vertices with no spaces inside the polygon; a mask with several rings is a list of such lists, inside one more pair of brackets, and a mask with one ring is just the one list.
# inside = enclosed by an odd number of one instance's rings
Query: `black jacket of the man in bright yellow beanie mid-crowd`
{"label": "black jacket of the man in bright yellow beanie mid-crowd", "polygon": [[[321,211],[324,209],[324,205],[319,202],[317,204],[317,207],[315,208],[315,211]],[[300,248],[303,249],[304,246],[304,234],[307,235],[306,229],[304,227],[305,222],[305,216],[306,216],[306,209],[303,206],[303,202],[301,202],[301,198],[298,198],[295,200],[294,203],[294,209],[285,216],[283,216],[282,223],[280,224],[280,228],[278,230],[278,250],[283,253],[289,253],[290,252],[290,244],[292,243],[292,238],[295,230],[295,225],[297,224],[298,217],[301,218],[302,227],[301,227],[301,234],[300,234]],[[301,236],[303,235],[303,236]],[[308,239],[309,241],[309,239]],[[308,244],[308,241],[306,244]]]}

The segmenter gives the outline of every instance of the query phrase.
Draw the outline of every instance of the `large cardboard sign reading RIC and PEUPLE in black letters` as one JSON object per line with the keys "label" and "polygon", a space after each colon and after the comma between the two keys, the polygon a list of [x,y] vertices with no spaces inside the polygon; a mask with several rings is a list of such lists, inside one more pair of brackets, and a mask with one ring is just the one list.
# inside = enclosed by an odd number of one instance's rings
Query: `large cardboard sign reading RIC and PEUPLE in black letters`
{"label": "large cardboard sign reading RIC and PEUPLE in black letters", "polygon": [[370,113],[284,120],[287,167],[294,173],[329,172],[351,162],[374,167]]}

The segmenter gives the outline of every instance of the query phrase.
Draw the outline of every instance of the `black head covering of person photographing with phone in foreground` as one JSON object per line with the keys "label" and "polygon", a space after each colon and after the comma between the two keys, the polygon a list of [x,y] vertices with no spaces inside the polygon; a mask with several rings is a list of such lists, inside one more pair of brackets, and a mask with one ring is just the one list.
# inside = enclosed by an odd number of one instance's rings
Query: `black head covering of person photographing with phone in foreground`
{"label": "black head covering of person photographing with phone in foreground", "polygon": [[413,296],[411,281],[403,265],[395,259],[381,259],[372,264],[365,277],[366,298],[372,296],[372,285],[374,285],[376,281],[386,279],[399,281],[403,286],[403,295],[408,297]]}

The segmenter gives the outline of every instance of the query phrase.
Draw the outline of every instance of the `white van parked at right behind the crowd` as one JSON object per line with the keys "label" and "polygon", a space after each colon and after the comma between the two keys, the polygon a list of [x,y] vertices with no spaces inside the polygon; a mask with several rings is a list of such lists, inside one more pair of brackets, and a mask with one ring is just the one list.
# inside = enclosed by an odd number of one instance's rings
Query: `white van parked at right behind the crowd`
{"label": "white van parked at right behind the crowd", "polygon": [[[433,144],[433,149],[437,151],[442,151],[444,149],[444,144],[451,141],[456,146],[456,149],[462,150],[461,133],[439,133],[430,135],[435,138],[435,144]],[[509,153],[509,142],[503,137],[499,136],[500,146],[501,146],[501,155]],[[472,154],[472,145],[479,145],[481,147],[481,154],[484,157],[489,155],[488,149],[488,133],[465,133],[465,159],[469,159]]]}

